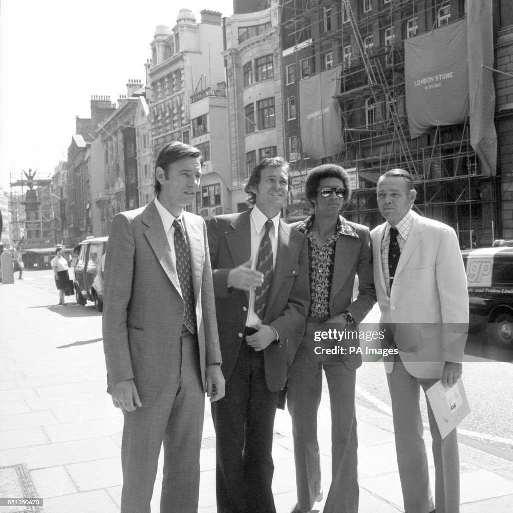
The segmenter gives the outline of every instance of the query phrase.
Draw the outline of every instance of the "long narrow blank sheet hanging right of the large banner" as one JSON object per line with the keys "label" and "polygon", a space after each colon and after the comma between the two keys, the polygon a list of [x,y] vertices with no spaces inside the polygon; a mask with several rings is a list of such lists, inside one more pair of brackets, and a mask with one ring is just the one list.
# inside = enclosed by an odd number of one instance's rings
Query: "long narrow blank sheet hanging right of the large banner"
{"label": "long narrow blank sheet hanging right of the large banner", "polygon": [[468,82],[470,90],[470,144],[481,161],[483,174],[497,173],[495,129],[494,28],[492,3],[474,0],[468,4]]}

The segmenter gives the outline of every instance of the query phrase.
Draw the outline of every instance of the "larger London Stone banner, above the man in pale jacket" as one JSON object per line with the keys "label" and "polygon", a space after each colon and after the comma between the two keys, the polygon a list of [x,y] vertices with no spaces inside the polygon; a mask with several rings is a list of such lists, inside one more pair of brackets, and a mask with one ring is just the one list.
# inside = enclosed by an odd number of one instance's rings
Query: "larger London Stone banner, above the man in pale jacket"
{"label": "larger London Stone banner, above the man in pale jacket", "polygon": [[467,21],[404,40],[406,112],[412,139],[468,116]]}

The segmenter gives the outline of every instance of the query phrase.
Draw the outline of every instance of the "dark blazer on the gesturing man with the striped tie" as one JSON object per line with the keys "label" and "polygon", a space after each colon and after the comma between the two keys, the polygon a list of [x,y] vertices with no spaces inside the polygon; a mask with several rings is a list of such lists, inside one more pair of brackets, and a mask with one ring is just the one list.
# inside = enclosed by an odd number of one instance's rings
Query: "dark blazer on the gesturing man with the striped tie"
{"label": "dark blazer on the gesturing man with the striped tie", "polygon": [[[251,257],[250,214],[246,211],[216,216],[207,229],[226,381],[239,353],[249,304],[248,292],[228,288],[228,273]],[[309,302],[306,239],[280,220],[276,263],[262,320],[279,335],[278,343],[272,342],[264,349],[265,379],[271,391],[281,390],[285,385],[287,353],[293,356],[301,341]]]}

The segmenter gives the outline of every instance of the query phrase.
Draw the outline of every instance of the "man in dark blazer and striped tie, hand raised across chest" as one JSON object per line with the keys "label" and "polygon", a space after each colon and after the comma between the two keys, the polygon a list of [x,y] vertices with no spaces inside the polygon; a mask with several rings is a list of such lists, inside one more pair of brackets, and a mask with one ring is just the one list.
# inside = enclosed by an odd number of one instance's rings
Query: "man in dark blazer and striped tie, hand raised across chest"
{"label": "man in dark blazer and striped tie, hand raised across chest", "polygon": [[253,208],[208,225],[226,396],[212,404],[218,513],[274,513],[272,427],[305,327],[306,240],[280,219],[288,164],[263,159],[246,185]]}

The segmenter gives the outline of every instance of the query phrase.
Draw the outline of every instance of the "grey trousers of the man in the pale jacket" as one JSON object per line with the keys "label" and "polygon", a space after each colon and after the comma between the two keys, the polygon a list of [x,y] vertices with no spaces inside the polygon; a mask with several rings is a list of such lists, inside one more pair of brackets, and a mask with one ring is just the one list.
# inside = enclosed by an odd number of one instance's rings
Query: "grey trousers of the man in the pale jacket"
{"label": "grey trousers of the man in the pale jacket", "polygon": [[[424,392],[437,379],[411,376],[399,355],[394,358],[392,372],[387,373],[392,400],[393,427],[396,436],[397,462],[403,490],[405,513],[428,513],[435,509],[429,486],[424,426],[420,412],[420,388]],[[442,440],[437,421],[427,401],[429,429],[433,439],[436,476],[437,513],[460,511],[460,458],[456,429]]]}

